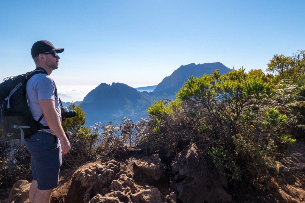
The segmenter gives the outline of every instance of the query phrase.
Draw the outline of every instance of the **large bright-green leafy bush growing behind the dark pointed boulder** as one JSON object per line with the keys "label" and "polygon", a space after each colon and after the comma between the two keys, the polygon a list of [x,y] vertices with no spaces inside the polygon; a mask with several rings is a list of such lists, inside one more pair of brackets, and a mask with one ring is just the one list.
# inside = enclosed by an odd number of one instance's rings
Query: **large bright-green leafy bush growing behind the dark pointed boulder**
{"label": "large bright-green leafy bush growing behind the dark pointed boulder", "polygon": [[[262,70],[233,69],[223,75],[216,70],[190,77],[175,101],[154,101],[148,108],[152,123],[147,142],[154,152],[169,156],[179,145],[196,142],[232,180],[251,183],[296,141],[290,134],[297,111],[292,112],[289,103],[303,98],[294,88],[281,88]],[[283,97],[285,91],[289,96]]]}

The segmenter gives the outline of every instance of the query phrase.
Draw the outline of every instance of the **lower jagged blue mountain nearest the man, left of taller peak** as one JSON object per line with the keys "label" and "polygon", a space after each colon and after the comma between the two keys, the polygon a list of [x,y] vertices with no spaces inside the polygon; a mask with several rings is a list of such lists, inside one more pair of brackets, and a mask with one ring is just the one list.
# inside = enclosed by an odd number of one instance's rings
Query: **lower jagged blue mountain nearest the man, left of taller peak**
{"label": "lower jagged blue mountain nearest the man, left of taller peak", "polygon": [[135,121],[147,117],[147,107],[159,98],[159,94],[139,92],[126,84],[102,83],[87,94],[81,107],[90,126],[96,122],[107,124],[109,121],[118,124],[124,117]]}

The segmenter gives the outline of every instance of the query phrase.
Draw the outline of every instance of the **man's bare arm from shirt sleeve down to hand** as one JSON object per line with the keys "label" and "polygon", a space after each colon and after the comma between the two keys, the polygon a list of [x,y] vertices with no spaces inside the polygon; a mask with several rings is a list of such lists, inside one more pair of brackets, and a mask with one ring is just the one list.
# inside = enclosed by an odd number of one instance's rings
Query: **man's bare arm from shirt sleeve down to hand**
{"label": "man's bare arm from shirt sleeve down to hand", "polygon": [[55,102],[52,99],[41,99],[38,100],[40,108],[42,110],[45,121],[47,122],[49,128],[53,131],[54,134],[59,138],[62,154],[65,155],[70,151],[70,142],[68,141],[65,131],[60,123],[60,118],[56,112]]}

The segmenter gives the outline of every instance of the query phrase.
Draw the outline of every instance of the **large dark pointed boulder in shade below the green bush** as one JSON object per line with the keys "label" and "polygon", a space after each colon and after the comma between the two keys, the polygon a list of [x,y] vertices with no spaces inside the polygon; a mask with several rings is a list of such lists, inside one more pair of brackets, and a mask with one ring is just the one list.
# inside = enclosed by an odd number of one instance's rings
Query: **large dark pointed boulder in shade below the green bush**
{"label": "large dark pointed boulder in shade below the green bush", "polygon": [[[230,202],[232,197],[223,189],[226,181],[219,178],[217,170],[208,166],[199,156],[196,144],[182,150],[171,163],[174,180],[170,186],[179,193],[184,203]],[[224,183],[222,183],[224,182]]]}

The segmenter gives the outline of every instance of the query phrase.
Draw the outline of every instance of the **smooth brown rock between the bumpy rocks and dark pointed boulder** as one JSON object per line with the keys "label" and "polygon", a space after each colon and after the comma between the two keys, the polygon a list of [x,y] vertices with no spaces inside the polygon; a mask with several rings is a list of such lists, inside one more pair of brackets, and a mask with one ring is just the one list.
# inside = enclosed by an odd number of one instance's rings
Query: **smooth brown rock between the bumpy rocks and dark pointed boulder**
{"label": "smooth brown rock between the bumpy rocks and dark pointed boulder", "polygon": [[164,172],[164,165],[158,154],[145,156],[142,159],[134,161],[134,163],[141,171],[154,180],[160,180]]}

